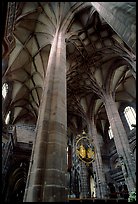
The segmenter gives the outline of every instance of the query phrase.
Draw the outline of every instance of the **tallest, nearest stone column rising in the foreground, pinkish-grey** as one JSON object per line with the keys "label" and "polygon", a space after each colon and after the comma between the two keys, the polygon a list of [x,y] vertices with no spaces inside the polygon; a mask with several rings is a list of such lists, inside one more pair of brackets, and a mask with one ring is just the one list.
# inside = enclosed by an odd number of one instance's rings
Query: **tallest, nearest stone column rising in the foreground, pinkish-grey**
{"label": "tallest, nearest stone column rising in the foreground, pinkish-grey", "polygon": [[67,198],[66,44],[57,31],[50,50],[38,116],[36,142],[24,202]]}

